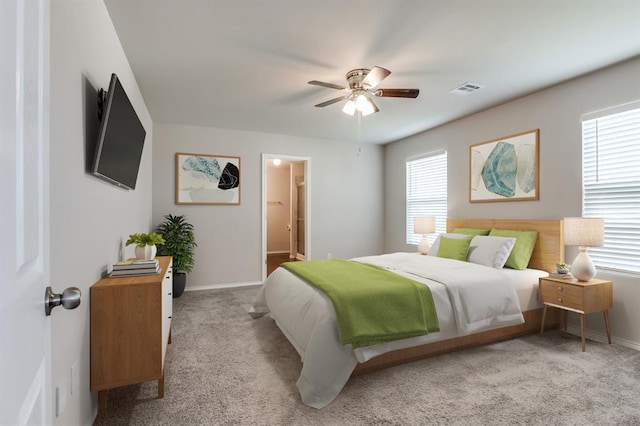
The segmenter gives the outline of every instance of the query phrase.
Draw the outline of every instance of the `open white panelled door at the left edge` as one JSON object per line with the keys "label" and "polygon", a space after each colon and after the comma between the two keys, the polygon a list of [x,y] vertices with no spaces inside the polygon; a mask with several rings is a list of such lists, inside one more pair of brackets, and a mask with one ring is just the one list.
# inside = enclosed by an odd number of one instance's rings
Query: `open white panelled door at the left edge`
{"label": "open white panelled door at the left edge", "polygon": [[51,424],[49,2],[0,0],[0,424]]}

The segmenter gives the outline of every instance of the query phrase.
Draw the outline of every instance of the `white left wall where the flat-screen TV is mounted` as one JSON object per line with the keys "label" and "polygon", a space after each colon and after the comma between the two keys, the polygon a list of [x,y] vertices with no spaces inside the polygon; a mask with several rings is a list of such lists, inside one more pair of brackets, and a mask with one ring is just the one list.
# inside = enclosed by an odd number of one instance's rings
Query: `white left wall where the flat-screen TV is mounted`
{"label": "white left wall where the flat-screen TV is mounted", "polygon": [[[123,241],[151,229],[152,122],[111,19],[101,0],[51,2],[51,285],[75,286],[82,303],[52,313],[55,386],[78,363],[80,388],[69,397],[58,425],[90,424],[97,394],[89,391],[89,287],[118,260]],[[86,173],[97,138],[97,90],[111,73],[141,118],[147,138],[135,191]],[[124,256],[133,256],[128,247]]]}

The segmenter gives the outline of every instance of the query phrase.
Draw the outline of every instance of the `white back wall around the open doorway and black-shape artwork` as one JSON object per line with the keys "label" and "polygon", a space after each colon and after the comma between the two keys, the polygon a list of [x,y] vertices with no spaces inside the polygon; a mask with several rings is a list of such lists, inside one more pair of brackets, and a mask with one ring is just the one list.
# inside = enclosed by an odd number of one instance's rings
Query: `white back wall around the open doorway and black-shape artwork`
{"label": "white back wall around the open doorway and black-shape artwork", "polygon": [[[262,153],[311,158],[311,258],[382,252],[382,147],[163,123],[153,134],[153,223],[185,214],[195,227],[187,288],[261,280]],[[240,156],[240,206],[176,205],[176,152]]]}

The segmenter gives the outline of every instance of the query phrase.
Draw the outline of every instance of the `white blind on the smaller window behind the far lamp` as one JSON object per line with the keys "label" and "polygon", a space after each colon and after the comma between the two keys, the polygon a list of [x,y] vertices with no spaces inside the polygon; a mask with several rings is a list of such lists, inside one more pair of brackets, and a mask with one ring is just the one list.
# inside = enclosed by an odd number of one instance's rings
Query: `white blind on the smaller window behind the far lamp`
{"label": "white blind on the smaller window behind the far lamp", "polygon": [[447,152],[428,154],[407,161],[407,244],[418,244],[421,235],[413,233],[413,218],[436,217],[433,243],[447,225]]}

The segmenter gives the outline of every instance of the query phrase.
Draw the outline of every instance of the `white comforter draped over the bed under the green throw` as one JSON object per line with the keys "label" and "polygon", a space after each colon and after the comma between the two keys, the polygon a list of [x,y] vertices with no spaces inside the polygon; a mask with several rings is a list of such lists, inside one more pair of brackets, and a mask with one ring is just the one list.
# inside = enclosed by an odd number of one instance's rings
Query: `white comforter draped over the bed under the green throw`
{"label": "white comforter draped over the bed under the green throw", "polygon": [[411,346],[524,322],[515,287],[501,271],[414,253],[353,259],[385,267],[429,286],[440,332],[352,349],[340,342],[331,301],[289,271],[278,268],[256,295],[250,314],[269,313],[302,357],[297,386],[311,407],[329,404],[358,362]]}

